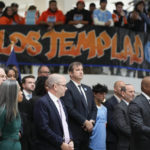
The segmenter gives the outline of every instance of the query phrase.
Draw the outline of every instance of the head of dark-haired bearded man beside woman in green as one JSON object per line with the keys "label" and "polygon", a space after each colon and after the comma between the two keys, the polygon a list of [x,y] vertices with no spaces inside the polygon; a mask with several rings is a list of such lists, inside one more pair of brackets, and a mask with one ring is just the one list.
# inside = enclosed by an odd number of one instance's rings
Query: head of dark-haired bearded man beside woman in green
{"label": "head of dark-haired bearded man beside woman in green", "polygon": [[35,77],[33,75],[23,77],[22,88],[28,93],[32,93],[35,89]]}

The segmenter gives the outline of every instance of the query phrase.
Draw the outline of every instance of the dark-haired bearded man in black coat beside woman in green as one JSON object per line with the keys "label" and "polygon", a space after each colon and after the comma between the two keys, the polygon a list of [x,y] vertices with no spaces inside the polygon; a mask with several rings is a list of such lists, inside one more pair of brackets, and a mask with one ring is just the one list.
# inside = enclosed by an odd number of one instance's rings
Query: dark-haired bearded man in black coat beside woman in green
{"label": "dark-haired bearded man in black coat beside woman in green", "polygon": [[30,107],[30,99],[32,98],[32,92],[35,89],[35,77],[32,75],[25,76],[22,79],[23,87],[23,101],[19,103],[19,112],[22,119],[22,134],[21,134],[21,146],[22,150],[32,150],[31,139],[31,115],[32,110]]}

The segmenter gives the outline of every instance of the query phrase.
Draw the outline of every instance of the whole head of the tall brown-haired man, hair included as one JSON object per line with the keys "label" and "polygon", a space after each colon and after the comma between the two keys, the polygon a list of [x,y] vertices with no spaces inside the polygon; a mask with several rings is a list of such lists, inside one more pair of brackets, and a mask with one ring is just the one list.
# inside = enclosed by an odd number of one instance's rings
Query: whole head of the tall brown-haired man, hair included
{"label": "whole head of the tall brown-haired man, hair included", "polygon": [[81,62],[73,62],[68,67],[70,78],[75,82],[80,82],[83,79],[83,64]]}

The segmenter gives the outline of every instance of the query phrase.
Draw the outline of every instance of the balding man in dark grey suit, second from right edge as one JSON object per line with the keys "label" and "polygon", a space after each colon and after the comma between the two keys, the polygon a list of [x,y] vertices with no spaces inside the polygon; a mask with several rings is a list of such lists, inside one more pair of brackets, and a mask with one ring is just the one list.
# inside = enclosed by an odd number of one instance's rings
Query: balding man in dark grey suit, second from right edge
{"label": "balding man in dark grey suit, second from right edge", "polygon": [[122,101],[117,104],[114,110],[114,120],[116,122],[118,140],[116,150],[129,150],[131,127],[128,116],[128,105],[134,99],[135,90],[133,85],[126,84],[121,88]]}

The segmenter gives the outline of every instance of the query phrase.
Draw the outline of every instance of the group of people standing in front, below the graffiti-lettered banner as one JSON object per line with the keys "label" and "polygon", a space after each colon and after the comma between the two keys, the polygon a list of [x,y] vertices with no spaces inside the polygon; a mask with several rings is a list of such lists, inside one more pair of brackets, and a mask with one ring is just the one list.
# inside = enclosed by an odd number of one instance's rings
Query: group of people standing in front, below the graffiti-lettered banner
{"label": "group of people standing in front, below the graffiti-lettered banner", "polygon": [[13,68],[0,68],[0,149],[149,150],[150,76],[140,95],[118,80],[106,99],[106,85],[82,84],[81,62],[69,65],[68,83],[47,66],[17,82]]}

